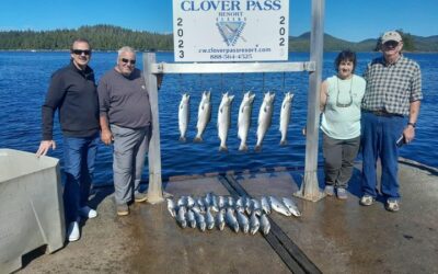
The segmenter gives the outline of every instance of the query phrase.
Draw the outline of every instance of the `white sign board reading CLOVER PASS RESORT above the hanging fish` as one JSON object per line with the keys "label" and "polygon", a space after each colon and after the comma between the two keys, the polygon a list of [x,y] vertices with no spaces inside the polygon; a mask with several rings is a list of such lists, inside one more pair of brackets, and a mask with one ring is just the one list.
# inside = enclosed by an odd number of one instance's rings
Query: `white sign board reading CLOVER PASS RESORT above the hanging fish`
{"label": "white sign board reading CLOVER PASS RESORT above the hanging fish", "polygon": [[287,60],[289,0],[173,0],[175,61]]}

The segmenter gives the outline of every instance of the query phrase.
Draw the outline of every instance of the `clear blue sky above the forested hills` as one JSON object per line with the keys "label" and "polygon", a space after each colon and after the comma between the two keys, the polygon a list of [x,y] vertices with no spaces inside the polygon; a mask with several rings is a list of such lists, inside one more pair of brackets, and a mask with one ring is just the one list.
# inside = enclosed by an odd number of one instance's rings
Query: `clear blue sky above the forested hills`
{"label": "clear blue sky above the forested hills", "polygon": [[[310,30],[311,0],[290,0],[289,34]],[[359,42],[402,28],[438,35],[438,0],[325,0],[325,32]],[[2,0],[0,30],[77,28],[112,24],[139,31],[172,32],[172,0]]]}

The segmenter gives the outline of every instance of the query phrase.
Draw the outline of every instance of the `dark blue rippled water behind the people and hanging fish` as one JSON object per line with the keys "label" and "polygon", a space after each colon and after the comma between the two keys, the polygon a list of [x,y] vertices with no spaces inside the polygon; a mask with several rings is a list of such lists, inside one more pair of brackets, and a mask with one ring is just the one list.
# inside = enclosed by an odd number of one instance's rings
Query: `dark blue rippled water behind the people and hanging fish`
{"label": "dark blue rippled water behind the people and hanging fish", "polygon": [[[323,78],[334,73],[333,60],[336,54],[324,55]],[[359,54],[359,64],[356,72],[361,75],[366,64],[376,54]],[[406,56],[419,62],[423,71],[424,101],[417,124],[416,140],[402,148],[401,153],[422,163],[438,167],[438,54],[407,54]],[[137,57],[139,68],[142,68],[141,55]],[[170,53],[159,53],[158,61],[173,61]],[[289,60],[308,60],[308,54],[290,54]],[[24,151],[36,151],[41,140],[41,105],[49,83],[50,75],[69,60],[68,53],[0,53],[0,148],[12,148]],[[94,53],[91,61],[96,79],[111,69],[116,60],[115,53]],[[308,73],[251,73],[251,75],[168,75],[164,78],[159,93],[162,174],[195,174],[226,170],[244,170],[273,167],[299,168],[304,165],[306,139],[301,128],[306,125]],[[252,127],[249,133],[247,145],[254,148],[256,137],[256,117],[262,104],[263,92],[276,92],[273,126],[268,130],[262,152],[238,151],[240,140],[237,137],[237,116],[243,92],[254,88]],[[201,91],[212,91],[211,122],[204,133],[204,142],[194,144],[196,135],[197,107]],[[231,90],[235,94],[232,104],[232,122],[228,137],[228,153],[218,152],[217,112],[222,91]],[[186,144],[178,142],[177,107],[183,92],[191,93],[191,124]],[[278,132],[279,107],[284,92],[292,91],[291,124],[288,132],[288,146],[279,147]],[[62,158],[61,135],[56,123],[55,140],[58,149],[50,156]],[[320,138],[321,142],[321,138]],[[321,150],[320,150],[321,151]],[[320,163],[322,156],[320,153]],[[61,162],[62,164],[62,162]],[[145,179],[147,169],[145,170]],[[96,164],[96,183],[112,181],[112,151],[110,147],[101,145]]]}

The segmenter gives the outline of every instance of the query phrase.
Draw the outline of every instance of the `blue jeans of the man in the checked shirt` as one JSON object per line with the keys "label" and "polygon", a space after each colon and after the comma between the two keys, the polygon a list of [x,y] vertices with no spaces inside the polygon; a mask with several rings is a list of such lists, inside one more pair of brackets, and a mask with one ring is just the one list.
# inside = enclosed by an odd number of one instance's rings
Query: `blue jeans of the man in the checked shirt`
{"label": "blue jeans of the man in the checked shirt", "polygon": [[377,160],[382,165],[381,193],[385,198],[400,198],[399,148],[396,140],[403,134],[406,118],[403,116],[378,116],[370,112],[361,114],[362,129],[362,191],[377,196]]}

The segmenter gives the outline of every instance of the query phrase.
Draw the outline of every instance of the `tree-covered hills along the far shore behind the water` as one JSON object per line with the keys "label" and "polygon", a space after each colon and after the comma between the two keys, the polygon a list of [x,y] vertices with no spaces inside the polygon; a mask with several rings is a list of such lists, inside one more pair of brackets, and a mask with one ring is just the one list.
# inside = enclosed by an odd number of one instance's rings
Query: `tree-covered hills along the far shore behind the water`
{"label": "tree-covered hills along the far shore behind the water", "polygon": [[[324,50],[337,52],[350,48],[356,52],[372,52],[376,38],[359,43],[324,35]],[[113,25],[81,26],[76,30],[56,31],[1,31],[0,50],[65,50],[77,37],[88,38],[97,50],[116,50],[129,45],[138,50],[173,50],[172,34],[159,34],[145,31],[132,31]],[[438,52],[438,35],[422,37],[403,33],[404,49],[410,52]],[[289,37],[290,52],[309,52],[310,33]]]}

